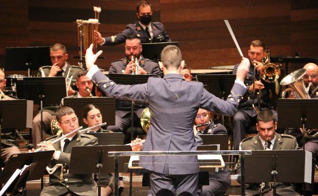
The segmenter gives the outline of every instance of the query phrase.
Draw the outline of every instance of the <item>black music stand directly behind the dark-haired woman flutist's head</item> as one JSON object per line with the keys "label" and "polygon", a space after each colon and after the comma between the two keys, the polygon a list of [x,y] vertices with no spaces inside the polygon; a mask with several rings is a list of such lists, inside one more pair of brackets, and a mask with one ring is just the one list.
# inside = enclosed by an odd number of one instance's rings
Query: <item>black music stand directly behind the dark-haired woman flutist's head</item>
{"label": "black music stand directly behind the dark-haired woman flutist's head", "polygon": [[[107,126],[115,125],[115,103],[113,97],[85,97],[85,98],[63,98],[61,104],[74,109],[75,114],[82,117],[82,111],[85,105],[94,104],[99,107],[103,122],[107,122]],[[84,122],[80,122],[80,126],[87,126]]]}

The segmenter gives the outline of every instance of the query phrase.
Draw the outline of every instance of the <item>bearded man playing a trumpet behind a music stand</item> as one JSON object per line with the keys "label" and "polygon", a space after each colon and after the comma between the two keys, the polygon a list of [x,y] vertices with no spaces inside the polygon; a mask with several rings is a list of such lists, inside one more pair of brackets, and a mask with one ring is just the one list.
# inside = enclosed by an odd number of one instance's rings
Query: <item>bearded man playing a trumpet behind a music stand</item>
{"label": "bearded man playing a trumpet behind a music stand", "polygon": [[[124,73],[130,74],[132,71],[136,70],[136,59],[139,63],[138,74],[160,74],[160,69],[157,63],[146,59],[142,56],[142,45],[140,44],[140,39],[136,36],[129,37],[125,41],[125,55],[124,59],[120,59],[111,64],[109,73]],[[134,60],[131,60],[133,57]],[[140,116],[144,108],[147,105],[140,102],[135,102],[134,104],[134,125],[141,127]],[[116,100],[116,111],[115,111],[115,125],[108,126],[108,130],[114,132],[123,132],[126,135],[130,135],[126,132],[127,128],[131,124],[131,101]],[[130,138],[130,137],[129,137]],[[130,140],[129,140],[130,141]]]}

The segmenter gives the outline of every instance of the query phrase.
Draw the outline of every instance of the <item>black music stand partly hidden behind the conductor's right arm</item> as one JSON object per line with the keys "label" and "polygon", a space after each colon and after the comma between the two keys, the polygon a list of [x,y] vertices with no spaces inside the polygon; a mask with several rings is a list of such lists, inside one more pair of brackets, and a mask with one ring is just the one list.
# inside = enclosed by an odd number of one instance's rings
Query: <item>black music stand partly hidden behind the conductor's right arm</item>
{"label": "black music stand partly hidden behind the conductor's right arm", "polygon": [[[197,75],[197,81],[203,83],[204,88],[209,92],[225,100],[231,93],[236,75],[230,74],[204,74]],[[224,125],[224,115],[222,115],[222,125]]]}

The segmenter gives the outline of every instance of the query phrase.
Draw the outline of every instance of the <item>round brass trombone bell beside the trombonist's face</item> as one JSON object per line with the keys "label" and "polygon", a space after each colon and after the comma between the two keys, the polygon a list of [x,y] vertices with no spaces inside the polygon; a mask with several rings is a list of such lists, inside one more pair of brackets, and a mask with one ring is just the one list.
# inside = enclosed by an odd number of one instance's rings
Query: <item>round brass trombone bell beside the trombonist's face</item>
{"label": "round brass trombone bell beside the trombonist's face", "polygon": [[280,68],[279,65],[271,63],[271,53],[270,49],[266,49],[266,56],[263,58],[263,69],[260,72],[260,77],[266,82],[277,81],[280,77]]}

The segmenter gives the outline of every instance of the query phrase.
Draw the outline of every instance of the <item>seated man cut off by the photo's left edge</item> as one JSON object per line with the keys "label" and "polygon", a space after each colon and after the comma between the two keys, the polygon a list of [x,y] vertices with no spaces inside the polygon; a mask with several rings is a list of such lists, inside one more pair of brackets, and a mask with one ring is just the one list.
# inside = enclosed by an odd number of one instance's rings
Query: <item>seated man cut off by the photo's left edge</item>
{"label": "seated man cut off by the photo's left edge", "polygon": [[[3,94],[3,91],[6,87],[7,80],[5,79],[5,72],[0,68],[0,90],[2,91],[2,95],[0,100],[13,100],[15,98],[11,96],[7,96]],[[1,157],[0,157],[0,165],[2,163],[8,162],[10,156],[12,154],[20,153],[19,148],[16,146],[15,141],[18,138],[18,132],[16,129],[2,129],[1,130]]]}

